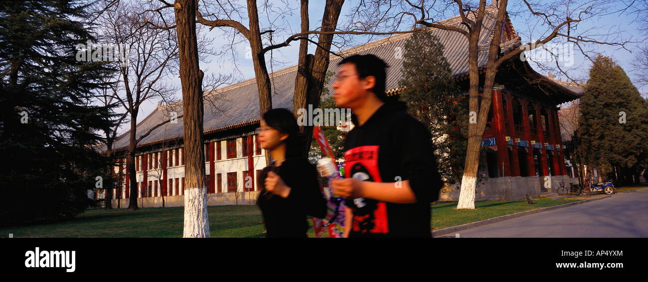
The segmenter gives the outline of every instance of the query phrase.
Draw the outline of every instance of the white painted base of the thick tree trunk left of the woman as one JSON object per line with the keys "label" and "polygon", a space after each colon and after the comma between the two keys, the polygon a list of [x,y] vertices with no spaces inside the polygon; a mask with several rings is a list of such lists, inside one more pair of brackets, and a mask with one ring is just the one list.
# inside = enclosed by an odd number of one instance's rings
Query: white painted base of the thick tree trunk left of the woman
{"label": "white painted base of the thick tree trunk left of the woman", "polygon": [[185,224],[182,237],[209,237],[207,217],[207,188],[185,190]]}

